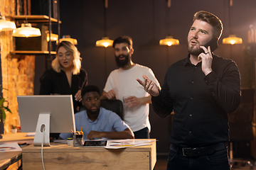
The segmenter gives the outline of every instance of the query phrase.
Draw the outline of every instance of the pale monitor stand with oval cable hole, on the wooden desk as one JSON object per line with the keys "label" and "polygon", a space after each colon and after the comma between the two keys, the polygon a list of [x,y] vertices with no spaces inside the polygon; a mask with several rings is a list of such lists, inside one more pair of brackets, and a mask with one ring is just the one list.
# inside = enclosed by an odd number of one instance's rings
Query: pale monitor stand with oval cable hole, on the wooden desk
{"label": "pale monitor stand with oval cable hole, on the wooden desk", "polygon": [[40,113],[36,125],[36,135],[33,141],[35,147],[50,147],[50,113]]}

